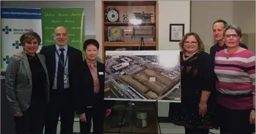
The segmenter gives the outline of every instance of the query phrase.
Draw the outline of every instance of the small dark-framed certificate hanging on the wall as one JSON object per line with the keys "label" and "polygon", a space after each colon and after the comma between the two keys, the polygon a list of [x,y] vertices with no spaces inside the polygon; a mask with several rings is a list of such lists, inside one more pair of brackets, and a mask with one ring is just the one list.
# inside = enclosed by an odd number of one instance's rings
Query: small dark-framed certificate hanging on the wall
{"label": "small dark-framed certificate hanging on the wall", "polygon": [[170,24],[169,41],[180,41],[184,36],[184,24]]}

